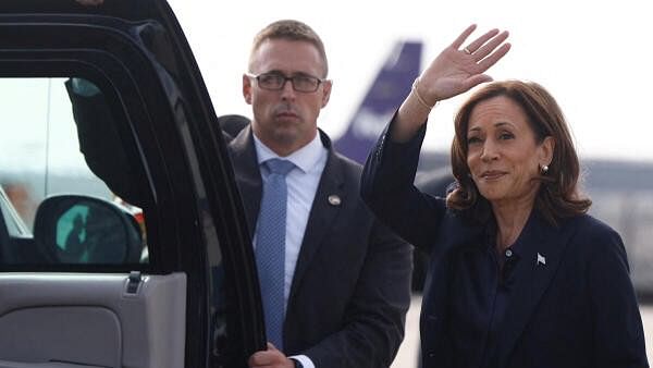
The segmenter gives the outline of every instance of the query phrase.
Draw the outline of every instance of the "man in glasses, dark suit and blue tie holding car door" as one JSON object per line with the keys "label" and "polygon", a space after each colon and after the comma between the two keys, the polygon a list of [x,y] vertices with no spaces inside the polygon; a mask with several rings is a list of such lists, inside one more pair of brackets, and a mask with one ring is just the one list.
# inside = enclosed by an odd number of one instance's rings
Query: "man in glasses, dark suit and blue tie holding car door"
{"label": "man in glasses, dark suit and blue tie holding car door", "polygon": [[[322,41],[296,21],[272,23],[256,36],[243,75],[254,118],[230,150],[271,342],[249,358],[250,367],[389,367],[404,335],[411,250],[360,200],[361,168],[334,152],[317,127],[331,94],[326,75]],[[279,159],[292,162],[287,174],[268,162]],[[287,205],[273,220],[285,219],[278,225],[285,232],[269,235],[268,185],[279,175]],[[281,238],[275,246],[283,254],[281,309],[269,296],[275,257],[263,255],[273,237]]]}

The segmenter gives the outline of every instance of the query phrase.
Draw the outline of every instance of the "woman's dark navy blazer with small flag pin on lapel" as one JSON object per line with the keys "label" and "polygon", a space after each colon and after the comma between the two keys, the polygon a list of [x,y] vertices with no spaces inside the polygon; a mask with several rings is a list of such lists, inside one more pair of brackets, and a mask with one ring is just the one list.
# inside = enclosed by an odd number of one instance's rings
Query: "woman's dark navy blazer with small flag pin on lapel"
{"label": "woman's dark navy blazer with small flag pin on lapel", "polygon": [[[477,247],[482,230],[412,185],[426,126],[406,143],[386,131],[370,154],[361,195],[379,219],[430,254],[422,299],[422,367],[453,367],[447,294],[453,261]],[[590,217],[557,225],[533,210],[528,246],[497,335],[493,367],[648,367],[641,317],[620,236]]]}

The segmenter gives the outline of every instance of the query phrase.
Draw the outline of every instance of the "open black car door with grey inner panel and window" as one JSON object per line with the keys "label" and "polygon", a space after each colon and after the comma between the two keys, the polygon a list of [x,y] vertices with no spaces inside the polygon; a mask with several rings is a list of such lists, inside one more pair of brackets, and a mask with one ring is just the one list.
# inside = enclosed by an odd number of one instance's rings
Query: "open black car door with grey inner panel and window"
{"label": "open black car door with grey inner panel and window", "polygon": [[0,39],[0,367],[246,367],[251,242],[165,1],[2,0]]}

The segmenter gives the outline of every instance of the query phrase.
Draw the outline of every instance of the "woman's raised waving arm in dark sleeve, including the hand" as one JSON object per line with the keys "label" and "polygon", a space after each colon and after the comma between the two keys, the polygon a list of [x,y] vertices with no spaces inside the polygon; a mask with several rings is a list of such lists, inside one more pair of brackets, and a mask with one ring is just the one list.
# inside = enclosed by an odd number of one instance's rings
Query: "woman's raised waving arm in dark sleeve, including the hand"
{"label": "woman's raised waving arm in dark sleeve, including the hand", "polygon": [[433,242],[445,212],[442,199],[414,186],[429,112],[438,101],[491,81],[483,73],[510,48],[504,44],[508,33],[493,29],[460,50],[475,29],[476,25],[465,29],[415,81],[370,152],[361,179],[361,196],[377,217],[421,248]]}

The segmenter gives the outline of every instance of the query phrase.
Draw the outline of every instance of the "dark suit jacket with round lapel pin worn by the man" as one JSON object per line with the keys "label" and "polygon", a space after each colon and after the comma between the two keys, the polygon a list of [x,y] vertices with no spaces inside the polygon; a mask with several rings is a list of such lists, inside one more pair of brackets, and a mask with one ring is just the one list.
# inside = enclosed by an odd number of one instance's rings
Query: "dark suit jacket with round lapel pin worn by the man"
{"label": "dark suit jacket with round lapel pin worn by the man", "polygon": [[[305,354],[318,368],[389,367],[410,304],[411,248],[360,199],[361,167],[320,136],[329,156],[291,286],[284,353]],[[230,151],[254,235],[262,180],[250,126]],[[330,204],[331,195],[341,203]]]}

